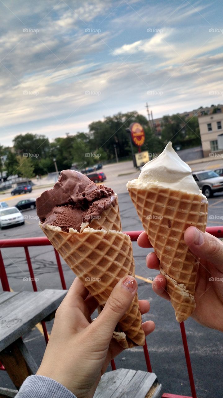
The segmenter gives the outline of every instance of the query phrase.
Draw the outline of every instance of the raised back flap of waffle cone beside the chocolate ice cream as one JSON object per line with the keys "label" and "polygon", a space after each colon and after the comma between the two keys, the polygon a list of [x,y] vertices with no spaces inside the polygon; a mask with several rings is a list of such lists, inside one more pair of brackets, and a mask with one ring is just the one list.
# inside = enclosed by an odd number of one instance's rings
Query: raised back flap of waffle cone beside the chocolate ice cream
{"label": "raised back flap of waffle cone beside the chocolate ice cream", "polygon": [[121,231],[121,218],[117,194],[115,194],[115,196],[115,205],[104,210],[100,216],[96,216],[90,222],[82,223],[81,232],[88,226],[94,229],[105,229],[106,231]]}

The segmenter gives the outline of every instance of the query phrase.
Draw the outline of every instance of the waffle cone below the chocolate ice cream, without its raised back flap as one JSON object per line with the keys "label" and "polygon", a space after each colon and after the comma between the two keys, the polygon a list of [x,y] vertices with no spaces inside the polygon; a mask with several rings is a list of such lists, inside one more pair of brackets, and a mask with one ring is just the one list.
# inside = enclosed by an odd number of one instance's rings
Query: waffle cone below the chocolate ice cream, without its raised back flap
{"label": "waffle cone below the chocolate ice cream, without its raised back flap", "polygon": [[[128,235],[113,230],[94,230],[90,227],[85,228],[83,232],[70,228],[67,233],[60,227],[43,227],[41,223],[39,225],[101,308],[122,277],[135,275],[133,250]],[[129,310],[117,324],[113,337],[124,348],[144,345],[145,336],[137,294]]]}

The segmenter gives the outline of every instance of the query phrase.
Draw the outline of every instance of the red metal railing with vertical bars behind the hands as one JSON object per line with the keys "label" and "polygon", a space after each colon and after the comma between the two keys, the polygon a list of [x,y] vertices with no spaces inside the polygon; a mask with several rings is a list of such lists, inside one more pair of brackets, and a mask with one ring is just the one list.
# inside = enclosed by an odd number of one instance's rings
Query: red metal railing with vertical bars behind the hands
{"label": "red metal railing with vertical bars behind the hands", "polygon": [[[135,242],[141,232],[142,231],[130,231],[130,232],[125,232],[125,234],[130,236],[132,242]],[[211,235],[216,236],[217,238],[223,238],[223,226],[220,226],[220,227],[218,227],[218,226],[208,227],[208,228],[206,228],[206,232],[209,232]],[[1,283],[2,283],[2,289],[4,291],[10,291],[10,286],[9,286],[9,283],[8,283],[8,277],[7,277],[7,274],[6,274],[6,269],[5,269],[4,261],[3,261],[3,258],[2,258],[1,248],[12,248],[12,247],[23,247],[24,248],[25,256],[26,256],[26,259],[27,259],[27,265],[28,265],[29,273],[30,273],[30,277],[31,277],[31,282],[32,282],[32,285],[33,285],[33,290],[37,291],[37,285],[36,285],[36,282],[35,282],[35,275],[34,275],[34,272],[33,272],[33,266],[32,266],[31,258],[30,258],[30,255],[29,255],[28,247],[31,247],[31,246],[50,246],[50,245],[51,245],[50,241],[44,236],[43,237],[39,237],[39,238],[3,239],[3,240],[0,240],[0,279],[1,279]],[[62,269],[62,264],[61,264],[61,261],[60,261],[60,256],[59,256],[58,252],[56,251],[56,249],[54,249],[54,251],[55,251],[55,257],[56,257],[56,262],[57,262],[57,266],[58,266],[58,271],[59,271],[59,275],[60,275],[60,281],[61,281],[61,284],[62,284],[62,288],[66,289],[66,283],[65,283],[65,279],[64,279],[64,275],[63,275],[63,269]],[[47,334],[45,322],[42,322],[42,326],[43,326],[43,331],[44,331],[44,337],[45,337],[45,340],[46,340],[46,343],[47,343],[48,342],[48,334]],[[185,326],[184,326],[183,322],[180,323],[180,329],[181,329],[181,335],[182,335],[182,340],[183,340],[183,347],[184,347],[184,351],[185,351],[185,359],[186,359],[186,365],[187,365],[187,370],[188,370],[188,377],[189,377],[192,397],[186,397],[186,396],[181,396],[181,395],[174,395],[174,394],[166,394],[165,393],[165,394],[163,394],[162,398],[197,398],[195,385],[194,385],[194,377],[193,377],[193,372],[192,372],[192,366],[191,366],[191,362],[190,362],[190,354],[189,354],[189,349],[188,349],[188,344],[187,344],[187,339],[186,339]],[[148,348],[147,348],[147,344],[146,343],[145,343],[143,349],[144,349],[144,356],[145,356],[145,360],[146,360],[147,370],[148,370],[148,372],[152,372],[152,367],[151,367],[151,364],[150,364],[150,357],[149,357]],[[115,367],[114,360],[111,361],[111,365],[112,365],[112,370],[115,370],[116,367]],[[3,367],[0,366],[0,369],[3,369]]]}

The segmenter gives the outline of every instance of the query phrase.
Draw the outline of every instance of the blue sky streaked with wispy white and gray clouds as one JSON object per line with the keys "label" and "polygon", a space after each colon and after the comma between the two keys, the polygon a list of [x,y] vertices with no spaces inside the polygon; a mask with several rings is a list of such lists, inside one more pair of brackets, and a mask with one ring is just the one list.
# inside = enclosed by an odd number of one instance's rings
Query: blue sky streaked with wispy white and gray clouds
{"label": "blue sky streaked with wispy white and gray clouds", "polygon": [[[223,103],[222,2],[0,0],[0,144]],[[211,92],[211,93],[210,93]]]}

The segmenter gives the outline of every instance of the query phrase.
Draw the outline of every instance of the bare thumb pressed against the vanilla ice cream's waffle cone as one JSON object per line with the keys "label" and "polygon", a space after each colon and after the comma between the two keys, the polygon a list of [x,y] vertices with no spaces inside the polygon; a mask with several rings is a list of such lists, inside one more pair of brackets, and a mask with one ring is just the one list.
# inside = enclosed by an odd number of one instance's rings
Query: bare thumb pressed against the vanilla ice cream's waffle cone
{"label": "bare thumb pressed against the vanilla ice cream's waffle cone", "polygon": [[184,240],[192,253],[223,271],[223,244],[218,238],[190,226],[185,231]]}

